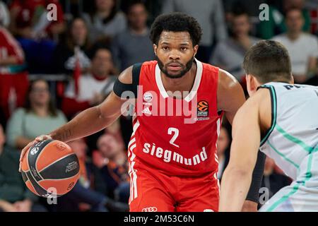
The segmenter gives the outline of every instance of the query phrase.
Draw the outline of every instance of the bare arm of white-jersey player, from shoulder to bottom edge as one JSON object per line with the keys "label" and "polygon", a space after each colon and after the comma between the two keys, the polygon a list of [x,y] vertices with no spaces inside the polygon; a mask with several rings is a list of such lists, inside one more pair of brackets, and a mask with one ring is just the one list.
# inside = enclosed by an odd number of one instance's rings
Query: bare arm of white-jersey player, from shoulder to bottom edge
{"label": "bare arm of white-jersey player, from shoulder to bottom edge", "polygon": [[261,131],[270,121],[270,111],[266,110],[266,106],[271,106],[268,90],[259,90],[235,115],[230,162],[223,174],[220,189],[220,211],[242,210],[257,162]]}

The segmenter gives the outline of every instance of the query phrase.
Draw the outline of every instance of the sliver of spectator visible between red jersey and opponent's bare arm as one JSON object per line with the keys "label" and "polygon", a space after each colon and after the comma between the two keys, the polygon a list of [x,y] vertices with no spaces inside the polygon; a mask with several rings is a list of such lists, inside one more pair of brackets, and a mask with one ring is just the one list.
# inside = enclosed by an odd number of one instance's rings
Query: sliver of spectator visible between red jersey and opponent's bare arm
{"label": "sliver of spectator visible between red jersey and opponent's bare arm", "polygon": [[230,157],[230,135],[225,126],[222,126],[220,129],[216,146],[218,155],[218,179],[221,179]]}

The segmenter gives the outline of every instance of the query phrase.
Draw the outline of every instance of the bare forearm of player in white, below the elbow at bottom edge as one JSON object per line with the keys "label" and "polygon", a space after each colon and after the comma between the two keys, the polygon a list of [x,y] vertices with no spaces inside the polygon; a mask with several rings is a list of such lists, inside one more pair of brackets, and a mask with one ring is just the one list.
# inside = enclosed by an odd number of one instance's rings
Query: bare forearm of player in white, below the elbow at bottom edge
{"label": "bare forearm of player in white, below the elbow at bottom edge", "polygon": [[240,212],[245,202],[252,172],[230,167],[225,169],[220,189],[220,212]]}

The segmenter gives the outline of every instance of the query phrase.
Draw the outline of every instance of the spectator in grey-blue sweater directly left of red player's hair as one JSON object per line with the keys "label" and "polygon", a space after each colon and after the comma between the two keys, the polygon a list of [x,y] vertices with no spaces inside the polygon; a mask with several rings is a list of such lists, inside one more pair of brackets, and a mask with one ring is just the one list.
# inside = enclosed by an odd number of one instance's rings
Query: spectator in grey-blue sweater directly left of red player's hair
{"label": "spectator in grey-blue sweater directly left of red player's hair", "polygon": [[146,6],[137,1],[127,10],[129,28],[114,38],[113,52],[117,67],[123,71],[129,66],[153,60],[153,44],[147,28],[148,13]]}

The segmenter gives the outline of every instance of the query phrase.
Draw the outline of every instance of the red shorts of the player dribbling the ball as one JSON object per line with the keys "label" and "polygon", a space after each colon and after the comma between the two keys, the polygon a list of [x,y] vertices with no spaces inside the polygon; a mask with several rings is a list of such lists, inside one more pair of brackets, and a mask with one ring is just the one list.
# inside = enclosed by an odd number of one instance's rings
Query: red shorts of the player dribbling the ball
{"label": "red shorts of the player dribbling the ball", "polygon": [[131,212],[218,211],[219,183],[214,174],[170,177],[153,169],[131,173]]}

